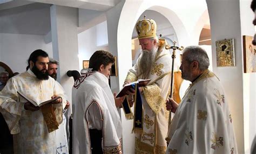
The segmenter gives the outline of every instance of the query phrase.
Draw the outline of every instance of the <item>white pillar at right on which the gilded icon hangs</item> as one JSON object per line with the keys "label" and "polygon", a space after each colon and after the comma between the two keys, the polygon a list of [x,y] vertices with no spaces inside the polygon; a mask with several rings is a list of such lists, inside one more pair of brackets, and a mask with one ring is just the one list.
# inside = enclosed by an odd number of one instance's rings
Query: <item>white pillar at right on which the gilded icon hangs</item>
{"label": "white pillar at right on which the gilded icon hangs", "polygon": [[[245,74],[243,73],[242,35],[245,34],[245,32],[242,31],[250,28],[253,30],[253,26],[251,24],[253,20],[253,13],[250,9],[251,1],[246,2],[248,3],[246,9],[241,7],[244,4],[239,0],[206,0],[206,2],[211,22],[213,72],[219,77],[226,92],[225,98],[227,99],[231,109],[235,137],[238,145],[238,153],[250,153],[248,152],[248,145],[246,145],[246,134],[250,130],[246,128],[245,124],[250,120],[250,118],[246,118],[246,115],[250,114],[250,110],[246,110],[247,106],[250,104],[250,102],[246,100],[246,97],[250,98],[252,96],[250,96],[250,93],[246,93],[250,88],[245,87],[245,82],[250,83],[252,81],[246,81]],[[251,15],[250,13],[243,15],[244,13],[242,12],[248,12],[248,10],[251,11]],[[251,16],[251,22],[246,19],[248,18],[248,15]],[[243,23],[243,20],[246,23]],[[249,24],[251,24],[251,27],[245,26]],[[253,32],[251,32],[251,34],[253,34]],[[217,67],[215,41],[232,38],[234,39],[235,66]],[[253,95],[255,95],[255,92]],[[255,104],[255,100],[253,103]],[[251,121],[255,123],[255,109],[251,110],[253,111],[252,115],[254,116],[254,119]],[[255,137],[255,131],[251,136]]]}

